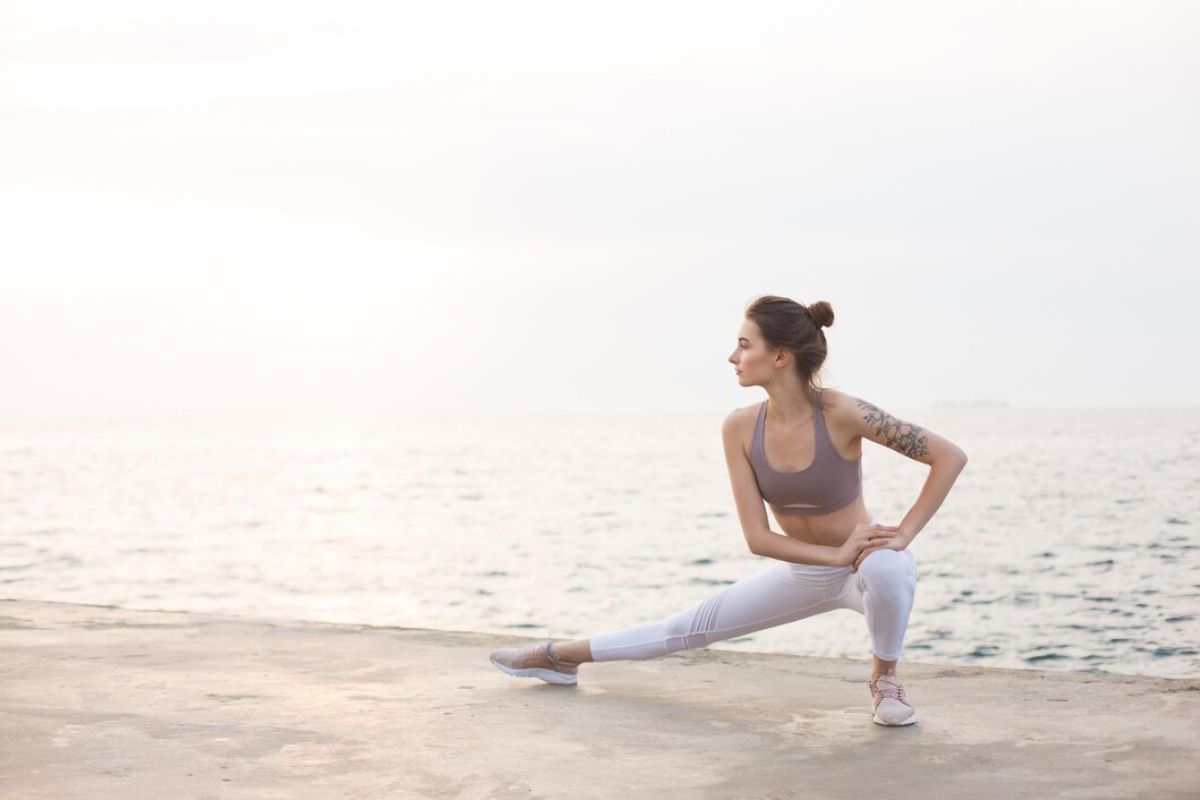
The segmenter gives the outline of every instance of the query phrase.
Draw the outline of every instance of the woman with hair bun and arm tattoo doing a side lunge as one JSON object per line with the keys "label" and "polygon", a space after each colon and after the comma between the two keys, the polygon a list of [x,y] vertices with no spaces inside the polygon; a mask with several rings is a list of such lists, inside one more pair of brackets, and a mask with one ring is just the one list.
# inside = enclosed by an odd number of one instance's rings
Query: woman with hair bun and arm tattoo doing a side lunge
{"label": "woman with hair bun and arm tattoo doing a side lunge", "polygon": [[[588,661],[654,658],[853,608],[871,636],[874,722],[916,722],[896,676],[917,588],[908,545],[942,505],[967,457],[947,439],[866,401],[817,389],[814,377],[827,353],[821,329],[832,324],[828,302],[805,308],[787,297],[757,297],[728,359],[740,385],[767,391],[761,404],[726,416],[721,435],[746,545],[778,563],[666,619],[589,639],[497,650],[492,663],[510,675],[575,684],[578,664]],[[930,465],[899,525],[881,525],[866,510],[863,439]],[[784,535],[770,530],[764,500]]]}

